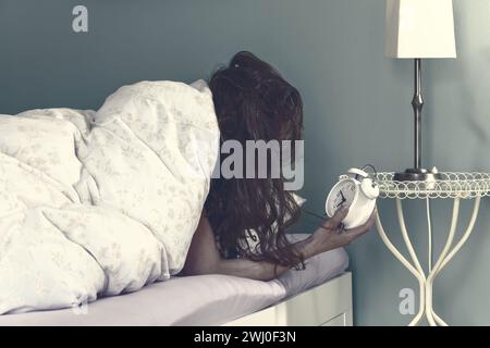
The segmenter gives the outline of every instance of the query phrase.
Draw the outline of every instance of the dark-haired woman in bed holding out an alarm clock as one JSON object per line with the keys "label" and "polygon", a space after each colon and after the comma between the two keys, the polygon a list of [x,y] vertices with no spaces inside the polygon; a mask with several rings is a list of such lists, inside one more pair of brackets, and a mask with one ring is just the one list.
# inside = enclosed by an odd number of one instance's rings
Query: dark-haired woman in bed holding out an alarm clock
{"label": "dark-haired woman in bed holding out an alarm clock", "polygon": [[[211,76],[209,87],[221,141],[301,139],[299,92],[254,54],[235,54],[229,66]],[[375,222],[372,214],[364,225],[343,231],[348,209],[341,209],[310,237],[290,244],[286,229],[299,217],[299,207],[283,184],[283,178],[212,179],[182,274],[271,279],[304,266],[315,254],[352,243]]]}

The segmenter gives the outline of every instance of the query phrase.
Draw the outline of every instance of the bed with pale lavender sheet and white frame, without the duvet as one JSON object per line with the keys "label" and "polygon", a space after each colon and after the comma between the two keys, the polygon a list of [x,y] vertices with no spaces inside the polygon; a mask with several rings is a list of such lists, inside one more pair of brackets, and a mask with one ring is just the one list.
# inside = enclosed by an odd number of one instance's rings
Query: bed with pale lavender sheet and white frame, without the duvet
{"label": "bed with pale lavender sheet and white frame, without the duvet", "polygon": [[347,265],[341,248],[309,259],[305,271],[291,270],[270,282],[172,277],[78,308],[0,315],[0,326],[352,325]]}

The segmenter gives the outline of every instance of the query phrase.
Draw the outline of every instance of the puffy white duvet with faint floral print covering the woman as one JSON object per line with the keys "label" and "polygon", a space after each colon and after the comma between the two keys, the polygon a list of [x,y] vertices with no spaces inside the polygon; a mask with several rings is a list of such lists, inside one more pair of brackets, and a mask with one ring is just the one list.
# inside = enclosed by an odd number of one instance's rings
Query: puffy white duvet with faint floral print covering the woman
{"label": "puffy white duvet with faint floral print covering the woman", "polygon": [[95,111],[0,115],[0,314],[177,273],[218,154],[210,90],[143,82]]}

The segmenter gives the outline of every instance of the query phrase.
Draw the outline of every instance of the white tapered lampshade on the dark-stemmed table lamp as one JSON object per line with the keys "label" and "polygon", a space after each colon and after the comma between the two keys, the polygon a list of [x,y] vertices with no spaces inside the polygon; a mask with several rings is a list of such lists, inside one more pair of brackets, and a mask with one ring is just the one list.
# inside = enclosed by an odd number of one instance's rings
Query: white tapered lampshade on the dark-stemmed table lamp
{"label": "white tapered lampshade on the dark-stemmed table lamp", "polygon": [[384,54],[456,58],[452,0],[387,0]]}

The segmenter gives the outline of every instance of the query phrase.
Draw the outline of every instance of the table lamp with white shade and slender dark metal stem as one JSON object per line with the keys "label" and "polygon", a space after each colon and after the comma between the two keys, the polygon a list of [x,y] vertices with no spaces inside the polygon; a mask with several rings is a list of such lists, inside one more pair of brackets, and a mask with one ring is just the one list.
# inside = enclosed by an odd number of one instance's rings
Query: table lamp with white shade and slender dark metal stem
{"label": "table lamp with white shade and slender dark metal stem", "polygon": [[414,167],[395,181],[434,181],[436,171],[421,166],[421,59],[456,58],[452,0],[387,0],[384,54],[414,59]]}

